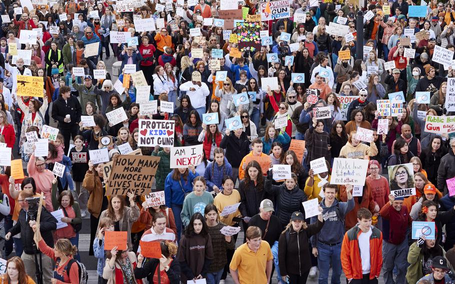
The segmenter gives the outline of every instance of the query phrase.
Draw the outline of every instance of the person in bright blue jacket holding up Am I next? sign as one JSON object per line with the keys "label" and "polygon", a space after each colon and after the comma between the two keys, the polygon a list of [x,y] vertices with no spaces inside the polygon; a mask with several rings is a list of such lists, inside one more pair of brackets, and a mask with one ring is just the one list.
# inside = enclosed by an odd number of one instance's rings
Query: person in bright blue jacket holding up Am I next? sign
{"label": "person in bright blue jacket holding up Am I next? sign", "polygon": [[183,209],[183,199],[187,193],[192,192],[192,181],[196,176],[198,176],[196,169],[190,164],[187,168],[174,168],[164,180],[166,206],[174,213],[178,241],[180,241],[182,226],[180,213]]}

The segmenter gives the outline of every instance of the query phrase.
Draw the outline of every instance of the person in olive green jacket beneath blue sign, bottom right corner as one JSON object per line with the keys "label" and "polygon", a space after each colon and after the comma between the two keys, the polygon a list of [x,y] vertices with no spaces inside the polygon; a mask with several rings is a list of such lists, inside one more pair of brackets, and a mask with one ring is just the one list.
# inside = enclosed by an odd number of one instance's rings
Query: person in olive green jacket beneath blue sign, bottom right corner
{"label": "person in olive green jacket beneath blue sign, bottom right corner", "polygon": [[[409,247],[407,253],[406,280],[408,283],[416,283],[424,275],[431,273],[431,259],[435,256],[445,257],[445,250],[434,239],[426,239],[424,235],[419,237]],[[453,267],[447,263],[453,273]]]}

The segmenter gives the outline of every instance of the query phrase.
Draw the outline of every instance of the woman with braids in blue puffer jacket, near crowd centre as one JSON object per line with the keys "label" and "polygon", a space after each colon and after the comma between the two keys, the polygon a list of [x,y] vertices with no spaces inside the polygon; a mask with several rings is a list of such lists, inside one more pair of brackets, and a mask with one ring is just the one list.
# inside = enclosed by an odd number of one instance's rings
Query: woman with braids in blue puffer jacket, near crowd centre
{"label": "woman with braids in blue puffer jacket, near crowd centre", "polygon": [[222,179],[224,176],[232,176],[232,166],[224,157],[222,148],[213,150],[214,159],[205,167],[204,178],[207,183],[207,191],[215,191],[218,193],[221,188]]}

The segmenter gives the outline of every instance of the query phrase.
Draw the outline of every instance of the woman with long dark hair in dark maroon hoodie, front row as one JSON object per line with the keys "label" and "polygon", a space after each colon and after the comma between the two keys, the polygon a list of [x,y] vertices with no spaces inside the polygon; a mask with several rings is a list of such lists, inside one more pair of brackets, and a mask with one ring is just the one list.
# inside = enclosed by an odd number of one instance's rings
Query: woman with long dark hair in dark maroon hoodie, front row
{"label": "woman with long dark hair in dark maroon hoodie, front row", "polygon": [[[199,249],[191,249],[194,246]],[[177,260],[180,262],[180,278],[183,283],[206,277],[213,260],[213,247],[202,213],[195,212],[188,220],[188,226],[179,243]]]}

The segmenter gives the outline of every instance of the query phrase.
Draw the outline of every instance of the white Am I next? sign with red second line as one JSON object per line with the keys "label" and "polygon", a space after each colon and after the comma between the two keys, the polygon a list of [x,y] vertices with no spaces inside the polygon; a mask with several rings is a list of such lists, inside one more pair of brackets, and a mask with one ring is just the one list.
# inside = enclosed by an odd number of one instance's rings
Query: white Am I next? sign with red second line
{"label": "white Am I next? sign with red second line", "polygon": [[186,168],[188,165],[198,165],[202,162],[202,144],[170,148],[170,168]]}

